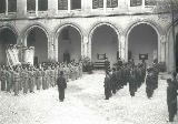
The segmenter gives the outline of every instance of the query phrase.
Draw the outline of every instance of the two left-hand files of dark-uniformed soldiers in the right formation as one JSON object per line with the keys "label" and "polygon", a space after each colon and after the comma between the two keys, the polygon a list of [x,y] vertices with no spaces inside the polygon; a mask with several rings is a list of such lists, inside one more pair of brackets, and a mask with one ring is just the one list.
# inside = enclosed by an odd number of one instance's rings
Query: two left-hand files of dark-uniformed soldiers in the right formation
{"label": "two left-hand files of dark-uniformed soldiers in the right formation", "polygon": [[138,87],[145,82],[146,76],[146,63],[132,65],[132,63],[126,63],[113,68],[112,71],[106,71],[105,78],[105,95],[108,100],[116,91],[122,89],[129,83],[129,92],[131,96],[135,96]]}

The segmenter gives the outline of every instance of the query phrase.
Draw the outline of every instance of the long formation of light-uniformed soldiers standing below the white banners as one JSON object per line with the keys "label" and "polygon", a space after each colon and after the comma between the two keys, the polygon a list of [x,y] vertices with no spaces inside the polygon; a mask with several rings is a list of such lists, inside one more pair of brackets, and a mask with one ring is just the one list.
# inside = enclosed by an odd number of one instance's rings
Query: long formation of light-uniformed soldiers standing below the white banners
{"label": "long formation of light-uniformed soldiers standing below the white banners", "polygon": [[60,64],[42,64],[39,68],[32,65],[2,66],[0,71],[1,91],[20,91],[24,94],[33,93],[37,90],[47,90],[56,86],[57,78],[63,71],[66,81],[77,80],[82,76],[82,63],[71,62]]}

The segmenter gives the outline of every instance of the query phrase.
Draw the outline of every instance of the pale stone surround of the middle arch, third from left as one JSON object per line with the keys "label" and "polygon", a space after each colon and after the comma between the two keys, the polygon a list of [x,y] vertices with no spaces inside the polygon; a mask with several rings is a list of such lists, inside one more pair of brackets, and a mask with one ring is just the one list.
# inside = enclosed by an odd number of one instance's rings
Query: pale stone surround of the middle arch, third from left
{"label": "pale stone surround of the middle arch, third from left", "polygon": [[58,48],[58,37],[59,37],[60,32],[67,27],[73,28],[80,34],[80,37],[81,37],[81,56],[82,56],[85,32],[83,32],[83,30],[81,30],[81,27],[79,24],[73,23],[73,22],[66,22],[66,23],[59,24],[53,30],[53,52],[55,52],[55,56],[53,56],[55,59],[53,60],[55,61],[58,61],[58,49],[59,49]]}

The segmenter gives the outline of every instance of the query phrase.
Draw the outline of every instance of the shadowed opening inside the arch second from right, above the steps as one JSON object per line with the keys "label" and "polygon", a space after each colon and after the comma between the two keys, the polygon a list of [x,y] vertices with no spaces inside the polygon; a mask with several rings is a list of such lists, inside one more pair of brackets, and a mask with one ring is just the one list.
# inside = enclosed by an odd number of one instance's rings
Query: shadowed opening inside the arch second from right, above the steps
{"label": "shadowed opening inside the arch second from right, above the steps", "polygon": [[103,62],[105,56],[110,62],[110,66],[112,66],[119,58],[118,33],[112,27],[107,24],[97,27],[91,35],[92,62]]}

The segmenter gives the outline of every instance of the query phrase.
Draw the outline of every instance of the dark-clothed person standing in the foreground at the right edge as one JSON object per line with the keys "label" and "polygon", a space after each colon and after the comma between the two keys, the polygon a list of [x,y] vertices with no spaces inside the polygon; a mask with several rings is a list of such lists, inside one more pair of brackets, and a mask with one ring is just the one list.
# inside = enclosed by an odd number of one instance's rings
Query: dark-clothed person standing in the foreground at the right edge
{"label": "dark-clothed person standing in the foreground at the right edge", "polygon": [[167,105],[169,112],[169,122],[174,122],[174,117],[177,113],[177,90],[171,79],[168,79],[167,82]]}

